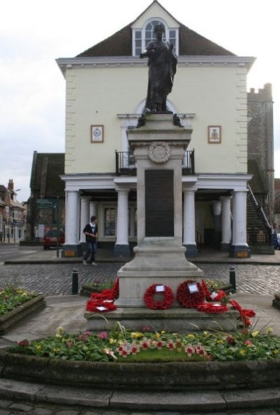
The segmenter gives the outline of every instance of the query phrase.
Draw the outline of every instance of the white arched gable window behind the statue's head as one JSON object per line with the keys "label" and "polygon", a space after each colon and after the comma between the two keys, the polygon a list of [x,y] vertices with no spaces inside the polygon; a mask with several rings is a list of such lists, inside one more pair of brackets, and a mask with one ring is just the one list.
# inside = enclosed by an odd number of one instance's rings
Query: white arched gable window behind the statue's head
{"label": "white arched gable window behind the statue's head", "polygon": [[178,29],[171,29],[160,19],[153,19],[146,22],[142,29],[133,29],[133,56],[139,56],[146,50],[148,43],[155,40],[154,27],[162,23],[165,26],[163,41],[173,43],[176,55],[179,55]]}

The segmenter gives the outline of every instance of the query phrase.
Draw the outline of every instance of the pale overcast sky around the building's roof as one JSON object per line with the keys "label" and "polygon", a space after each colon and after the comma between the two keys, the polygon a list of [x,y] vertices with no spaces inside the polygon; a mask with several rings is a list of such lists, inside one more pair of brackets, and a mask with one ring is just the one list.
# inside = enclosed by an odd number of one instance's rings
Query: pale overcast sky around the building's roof
{"label": "pale overcast sky around the building's roof", "polygon": [[[152,0],[7,0],[0,13],[0,184],[30,195],[38,153],[64,152],[65,82],[55,59],[75,57],[132,22]],[[257,60],[248,90],[272,83],[274,169],[280,177],[277,0],[160,0],[179,22],[239,56]],[[179,73],[177,73],[179,76]]]}

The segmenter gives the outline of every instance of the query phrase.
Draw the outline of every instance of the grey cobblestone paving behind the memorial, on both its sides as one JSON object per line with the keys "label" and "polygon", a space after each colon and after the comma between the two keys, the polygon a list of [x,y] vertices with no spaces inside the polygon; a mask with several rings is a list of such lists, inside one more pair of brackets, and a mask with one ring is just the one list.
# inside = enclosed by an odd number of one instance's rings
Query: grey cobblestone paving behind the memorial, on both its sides
{"label": "grey cobblestone paving behind the memorial, on both its sides", "polygon": [[[44,295],[66,295],[71,294],[73,269],[78,270],[81,288],[93,279],[114,279],[121,266],[120,262],[99,262],[97,267],[82,264],[0,265],[0,287],[14,283]],[[274,295],[280,291],[280,265],[232,266],[235,267],[239,293]],[[230,264],[198,264],[198,267],[207,279],[230,281]]]}

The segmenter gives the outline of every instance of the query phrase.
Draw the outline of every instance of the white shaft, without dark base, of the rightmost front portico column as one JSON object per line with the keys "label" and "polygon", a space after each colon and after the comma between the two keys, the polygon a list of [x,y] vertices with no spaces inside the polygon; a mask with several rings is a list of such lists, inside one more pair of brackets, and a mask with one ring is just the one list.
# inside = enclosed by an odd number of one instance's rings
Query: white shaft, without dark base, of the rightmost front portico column
{"label": "white shaft, without dark base, of the rightmost front portico column", "polygon": [[232,223],[232,245],[247,245],[246,226],[246,195],[247,192],[235,191],[233,194],[233,223]]}

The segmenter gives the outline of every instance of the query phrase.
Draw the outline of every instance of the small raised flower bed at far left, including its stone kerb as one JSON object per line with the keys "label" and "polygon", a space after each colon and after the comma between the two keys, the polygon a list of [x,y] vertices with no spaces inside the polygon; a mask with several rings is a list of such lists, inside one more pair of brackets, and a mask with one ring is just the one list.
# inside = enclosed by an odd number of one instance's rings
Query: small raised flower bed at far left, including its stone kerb
{"label": "small raised flower bed at far left, including its stone kerb", "polygon": [[45,307],[43,295],[14,287],[1,290],[0,335],[6,334],[10,328],[42,307]]}

